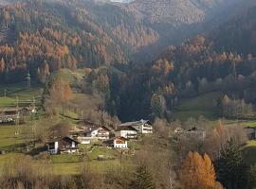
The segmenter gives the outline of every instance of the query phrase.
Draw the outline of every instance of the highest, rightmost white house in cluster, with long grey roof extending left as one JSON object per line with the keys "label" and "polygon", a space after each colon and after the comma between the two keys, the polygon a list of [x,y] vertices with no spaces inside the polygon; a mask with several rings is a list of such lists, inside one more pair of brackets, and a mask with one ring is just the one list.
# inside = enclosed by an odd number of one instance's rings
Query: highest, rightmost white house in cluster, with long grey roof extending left
{"label": "highest, rightmost white house in cluster, with long grey roof extending left", "polygon": [[134,129],[137,129],[137,132],[140,134],[151,134],[153,133],[153,128],[149,120],[139,120],[135,122],[127,122],[119,125],[119,127],[131,126]]}

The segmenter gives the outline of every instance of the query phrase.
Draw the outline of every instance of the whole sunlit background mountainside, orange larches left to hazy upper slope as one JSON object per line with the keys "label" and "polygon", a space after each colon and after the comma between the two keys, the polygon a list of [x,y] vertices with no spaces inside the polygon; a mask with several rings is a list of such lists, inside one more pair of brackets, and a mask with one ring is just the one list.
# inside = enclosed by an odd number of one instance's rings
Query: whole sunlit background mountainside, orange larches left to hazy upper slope
{"label": "whole sunlit background mountainside, orange larches left to hazy upper slope", "polygon": [[[205,22],[215,9],[228,3],[3,1],[1,81],[19,81],[28,72],[40,78],[60,68],[98,68],[152,60],[167,44],[196,33],[197,26],[189,26]],[[16,77],[9,77],[12,74]]]}

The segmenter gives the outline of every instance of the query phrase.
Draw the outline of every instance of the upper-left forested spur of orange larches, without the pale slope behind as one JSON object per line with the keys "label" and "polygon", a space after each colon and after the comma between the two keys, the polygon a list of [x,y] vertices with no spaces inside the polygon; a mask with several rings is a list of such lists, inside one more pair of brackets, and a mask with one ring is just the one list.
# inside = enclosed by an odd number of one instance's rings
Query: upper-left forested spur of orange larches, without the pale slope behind
{"label": "upper-left forested spur of orange larches, without the pale slope behind", "polygon": [[130,53],[157,40],[155,31],[111,5],[24,1],[0,14],[2,82],[19,81],[27,72],[36,77],[60,68],[127,63]]}

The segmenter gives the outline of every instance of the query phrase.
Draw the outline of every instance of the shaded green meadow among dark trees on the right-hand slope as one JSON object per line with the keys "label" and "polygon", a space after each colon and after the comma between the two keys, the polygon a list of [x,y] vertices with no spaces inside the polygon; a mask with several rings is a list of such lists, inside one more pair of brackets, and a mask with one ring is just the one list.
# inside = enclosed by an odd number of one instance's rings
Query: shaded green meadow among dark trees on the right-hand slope
{"label": "shaded green meadow among dark trees on the right-hand slope", "polygon": [[182,102],[175,107],[174,118],[186,121],[190,117],[198,118],[203,115],[209,120],[216,120],[220,117],[220,110],[214,107],[213,100],[218,100],[221,96],[221,93],[210,93],[182,99]]}

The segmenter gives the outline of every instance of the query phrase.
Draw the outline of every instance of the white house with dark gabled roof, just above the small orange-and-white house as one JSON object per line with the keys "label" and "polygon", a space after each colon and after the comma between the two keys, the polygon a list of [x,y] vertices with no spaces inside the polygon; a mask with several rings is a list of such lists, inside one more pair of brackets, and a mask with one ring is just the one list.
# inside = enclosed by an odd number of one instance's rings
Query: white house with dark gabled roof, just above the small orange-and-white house
{"label": "white house with dark gabled roof, just above the small orange-and-white house", "polygon": [[134,129],[132,126],[122,126],[115,131],[115,136],[126,139],[137,139],[137,129]]}

